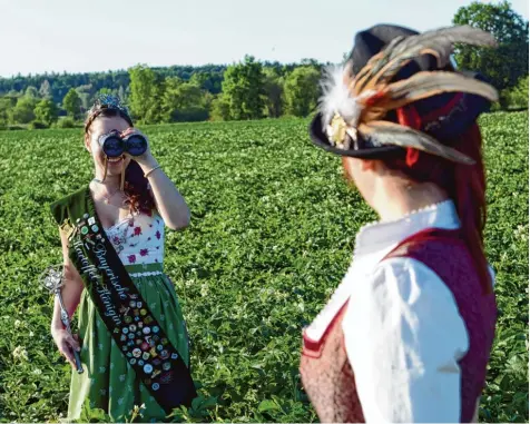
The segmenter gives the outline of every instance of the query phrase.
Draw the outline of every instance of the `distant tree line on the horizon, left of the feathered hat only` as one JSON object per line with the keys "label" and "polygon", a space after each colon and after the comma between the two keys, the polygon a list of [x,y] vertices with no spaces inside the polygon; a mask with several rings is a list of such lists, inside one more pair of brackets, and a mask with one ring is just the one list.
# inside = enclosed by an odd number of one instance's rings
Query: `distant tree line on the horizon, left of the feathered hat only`
{"label": "distant tree line on the horizon, left of the feathered hat only", "polygon": [[[185,67],[138,65],[127,71],[127,78],[119,72],[56,76],[53,85],[43,79],[39,88],[23,87],[22,77],[16,77],[10,90],[0,97],[0,126],[73,126],[99,93],[119,96],[141,124],[302,117],[316,107],[323,67],[313,59],[282,65],[246,56],[239,63],[198,67],[195,71],[189,68],[185,72]],[[85,81],[87,76],[98,83],[63,89],[68,79]],[[62,77],[66,79],[61,80]],[[39,78],[43,77],[28,80]],[[1,80],[0,87],[8,86],[6,81]],[[101,81],[107,81],[107,86]],[[124,81],[128,83],[124,86]],[[59,95],[53,87],[59,87]]]}

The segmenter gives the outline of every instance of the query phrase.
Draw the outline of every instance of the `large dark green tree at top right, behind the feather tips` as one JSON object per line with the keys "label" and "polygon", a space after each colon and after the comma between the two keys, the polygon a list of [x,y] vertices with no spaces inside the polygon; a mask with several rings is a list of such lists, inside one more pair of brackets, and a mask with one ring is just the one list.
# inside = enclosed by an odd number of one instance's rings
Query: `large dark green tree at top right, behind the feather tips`
{"label": "large dark green tree at top right, behind the feather tips", "polygon": [[460,46],[455,51],[460,68],[480,70],[500,90],[513,87],[528,75],[528,21],[508,1],[499,4],[474,1],[457,11],[453,23],[489,31],[499,43],[497,49]]}

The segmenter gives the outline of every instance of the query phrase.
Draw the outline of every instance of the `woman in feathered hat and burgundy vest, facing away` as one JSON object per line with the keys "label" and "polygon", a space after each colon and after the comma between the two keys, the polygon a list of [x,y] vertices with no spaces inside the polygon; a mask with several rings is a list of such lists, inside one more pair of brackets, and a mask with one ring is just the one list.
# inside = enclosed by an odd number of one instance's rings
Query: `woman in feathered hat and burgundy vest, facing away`
{"label": "woman in feathered hat and burgundy vest, facing away", "polygon": [[453,66],[470,27],[380,24],[327,72],[313,142],[342,157],[380,221],[304,329],[301,375],[322,422],[477,420],[494,337],[479,115],[497,91]]}

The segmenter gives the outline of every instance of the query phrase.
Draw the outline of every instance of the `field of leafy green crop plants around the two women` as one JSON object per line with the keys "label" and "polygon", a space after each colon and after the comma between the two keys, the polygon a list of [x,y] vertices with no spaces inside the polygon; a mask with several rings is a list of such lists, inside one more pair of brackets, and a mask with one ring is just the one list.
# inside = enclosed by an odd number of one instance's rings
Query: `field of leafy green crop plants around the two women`
{"label": "field of leafy green crop plants around the two women", "polygon": [[[528,112],[488,115],[481,126],[500,316],[480,420],[528,422]],[[165,267],[203,397],[174,420],[317,420],[301,390],[301,331],[375,215],[306,128],[296,119],[144,128],[193,214],[190,228],[167,234]],[[47,205],[91,172],[79,129],[0,132],[1,422],[57,422],[67,411],[70,368],[37,278],[61,260]]]}

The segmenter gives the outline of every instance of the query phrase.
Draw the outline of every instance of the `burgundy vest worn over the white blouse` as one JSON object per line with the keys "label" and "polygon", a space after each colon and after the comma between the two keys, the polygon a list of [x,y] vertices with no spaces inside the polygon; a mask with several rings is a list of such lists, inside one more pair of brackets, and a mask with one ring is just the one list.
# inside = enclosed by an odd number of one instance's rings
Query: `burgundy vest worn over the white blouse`
{"label": "burgundy vest worn over the white blouse", "polygon": [[[472,257],[459,230],[426,229],[403,240],[384,259],[408,257],[432,269],[454,296],[469,336],[469,351],[459,361],[461,371],[460,421],[471,422],[485,383],[494,337],[494,294],[483,294]],[[383,260],[384,260],[383,259]],[[346,356],[342,318],[336,314],[320,342],[304,335],[302,382],[321,422],[364,423],[355,376]]]}

